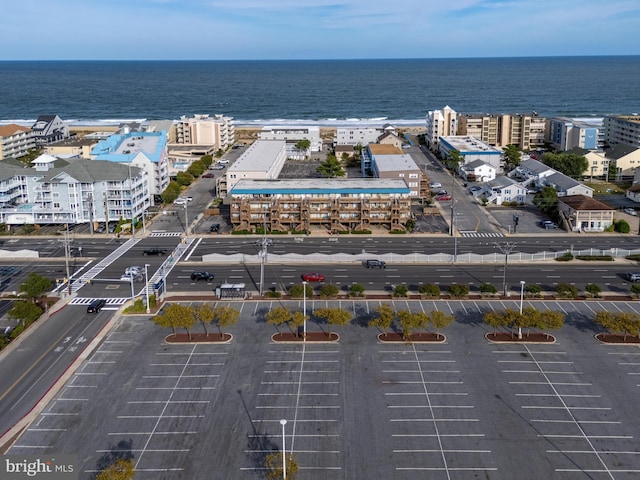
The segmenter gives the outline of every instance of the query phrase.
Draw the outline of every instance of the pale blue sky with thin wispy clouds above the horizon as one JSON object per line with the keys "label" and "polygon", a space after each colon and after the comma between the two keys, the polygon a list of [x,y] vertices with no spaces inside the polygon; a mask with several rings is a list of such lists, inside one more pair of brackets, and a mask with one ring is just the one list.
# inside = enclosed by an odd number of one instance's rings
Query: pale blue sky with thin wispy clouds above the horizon
{"label": "pale blue sky with thin wispy clouds above the horizon", "polygon": [[637,55],[637,0],[23,0],[0,60]]}

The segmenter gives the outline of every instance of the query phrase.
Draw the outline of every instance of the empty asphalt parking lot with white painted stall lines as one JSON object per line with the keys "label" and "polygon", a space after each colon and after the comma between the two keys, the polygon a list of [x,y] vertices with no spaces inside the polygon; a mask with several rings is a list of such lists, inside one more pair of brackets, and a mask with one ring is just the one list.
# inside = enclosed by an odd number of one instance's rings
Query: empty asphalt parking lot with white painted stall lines
{"label": "empty asphalt parking lot with white painted stall lines", "polygon": [[[285,303],[301,309],[301,302]],[[640,473],[638,350],[604,346],[596,311],[633,303],[547,302],[566,312],[551,345],[495,345],[482,313],[517,302],[394,301],[453,313],[444,344],[381,344],[378,302],[313,301],[354,312],[340,342],[273,344],[271,302],[237,302],[224,345],[166,345],[127,318],[72,376],[11,454],[73,453],[80,478],[114,455],[137,479],[261,478],[286,449],[299,478],[615,478]],[[80,307],[70,307],[79,313]],[[309,322],[309,330],[327,329]]]}

